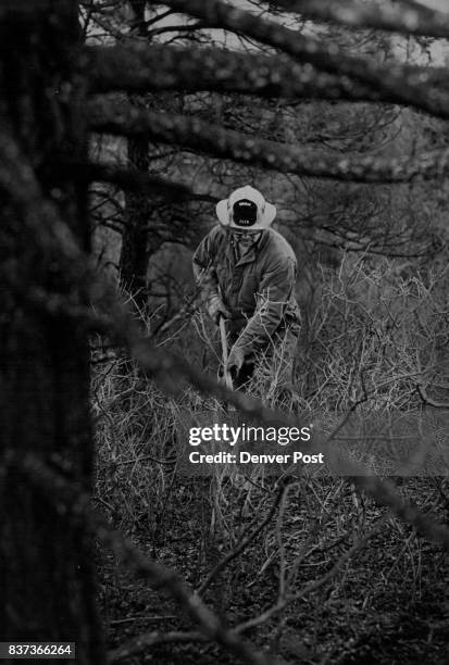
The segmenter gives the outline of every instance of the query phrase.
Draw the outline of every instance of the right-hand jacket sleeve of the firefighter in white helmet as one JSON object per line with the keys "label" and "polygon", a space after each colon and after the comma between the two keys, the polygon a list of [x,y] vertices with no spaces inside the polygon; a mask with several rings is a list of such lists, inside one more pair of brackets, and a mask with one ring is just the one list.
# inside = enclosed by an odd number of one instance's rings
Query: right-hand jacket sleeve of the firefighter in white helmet
{"label": "right-hand jacket sleeve of the firefighter in white helmet", "polygon": [[245,355],[270,342],[282,323],[294,291],[296,272],[296,262],[289,256],[278,256],[267,266],[259,287],[254,314],[235,342]]}

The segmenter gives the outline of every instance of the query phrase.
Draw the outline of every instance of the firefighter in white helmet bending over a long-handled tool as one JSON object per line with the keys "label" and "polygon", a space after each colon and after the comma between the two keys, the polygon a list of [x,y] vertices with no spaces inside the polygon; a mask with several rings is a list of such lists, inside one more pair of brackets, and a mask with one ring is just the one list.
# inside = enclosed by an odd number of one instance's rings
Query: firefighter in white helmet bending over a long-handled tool
{"label": "firefighter in white helmet bending over a long-handled tool", "polygon": [[275,373],[277,388],[291,389],[300,323],[297,260],[271,228],[276,209],[246,186],[220,201],[216,215],[220,224],[194,254],[194,273],[212,321],[226,319],[232,344],[226,368],[237,388],[263,365],[265,373],[267,367]]}

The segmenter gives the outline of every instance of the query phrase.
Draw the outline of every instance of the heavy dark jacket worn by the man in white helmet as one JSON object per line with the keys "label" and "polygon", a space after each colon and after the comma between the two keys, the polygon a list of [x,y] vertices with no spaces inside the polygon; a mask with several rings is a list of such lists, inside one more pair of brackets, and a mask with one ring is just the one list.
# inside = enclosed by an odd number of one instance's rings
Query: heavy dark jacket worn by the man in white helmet
{"label": "heavy dark jacket worn by the man in white helmet", "polygon": [[233,235],[217,225],[194,255],[194,273],[204,300],[221,294],[232,313],[230,331],[246,355],[270,343],[287,326],[298,329],[299,309],[294,296],[297,260],[287,240],[265,229],[236,261]]}

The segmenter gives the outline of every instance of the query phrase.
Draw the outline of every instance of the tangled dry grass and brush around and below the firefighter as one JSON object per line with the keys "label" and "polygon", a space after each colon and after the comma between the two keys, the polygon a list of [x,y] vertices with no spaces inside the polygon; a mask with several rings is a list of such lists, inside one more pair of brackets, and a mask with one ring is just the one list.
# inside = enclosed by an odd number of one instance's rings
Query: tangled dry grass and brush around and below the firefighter
{"label": "tangled dry grass and brush around and below the firefighter", "polygon": [[[275,382],[266,384],[265,373],[250,387],[270,405],[307,414],[327,432],[361,397],[365,401],[358,411],[366,417],[416,409],[416,373],[428,391],[435,386],[438,399],[444,397],[437,359],[445,310],[437,280],[425,288],[423,281],[399,280],[381,289],[382,280],[373,283],[373,275],[360,265],[349,273],[349,281],[340,272],[327,284],[321,310],[304,331],[297,392],[286,400]],[[366,280],[374,293],[370,300],[363,296]],[[423,326],[412,327],[413,321]],[[345,335],[339,331],[342,324]],[[197,318],[196,325],[216,349],[205,321]],[[183,344],[188,347],[188,340]],[[271,368],[275,376],[273,363]],[[319,387],[311,391],[311,385]],[[186,446],[177,435],[180,413],[212,417],[225,414],[224,409],[188,387],[182,387],[176,399],[167,398],[124,359],[93,366],[95,500],[146,551],[180,570],[195,587],[259,528],[278,491],[273,477],[232,476],[219,467],[205,478],[176,473],[178,447]],[[353,459],[359,452],[352,448]],[[371,472],[387,475],[389,469],[373,456]],[[447,480],[411,478],[399,489],[425,512],[447,516]],[[441,570],[447,563],[438,548],[347,480],[303,477],[288,487],[273,517],[211,581],[204,598],[230,625],[249,631],[287,663],[442,663],[440,626],[447,625],[449,605],[433,599],[444,594]],[[138,617],[154,615],[154,610],[142,612],[142,591],[114,570],[114,563],[104,560],[108,617],[121,622],[137,616],[111,627],[112,642],[120,643],[147,629],[148,622]],[[176,613],[169,601],[145,598],[145,607],[157,603],[157,614],[169,617],[158,628],[185,629],[182,619],[170,618]],[[395,644],[400,629],[410,643]],[[159,662],[198,662],[194,645],[160,649],[152,652]],[[203,663],[227,662],[220,652],[201,653]]]}

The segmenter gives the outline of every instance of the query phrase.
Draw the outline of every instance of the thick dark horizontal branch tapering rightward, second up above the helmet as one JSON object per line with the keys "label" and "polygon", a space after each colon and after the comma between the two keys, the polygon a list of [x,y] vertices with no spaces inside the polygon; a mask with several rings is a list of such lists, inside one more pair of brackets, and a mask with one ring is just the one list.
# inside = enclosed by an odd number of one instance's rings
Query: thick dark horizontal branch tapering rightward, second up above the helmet
{"label": "thick dark horizontal branch tapering rightward, second up above the helmet", "polygon": [[[269,58],[222,49],[136,45],[89,47],[80,62],[91,92],[183,89],[288,99],[378,101],[382,98],[376,90],[346,76],[326,74],[282,55]],[[384,97],[383,101],[389,100]]]}

